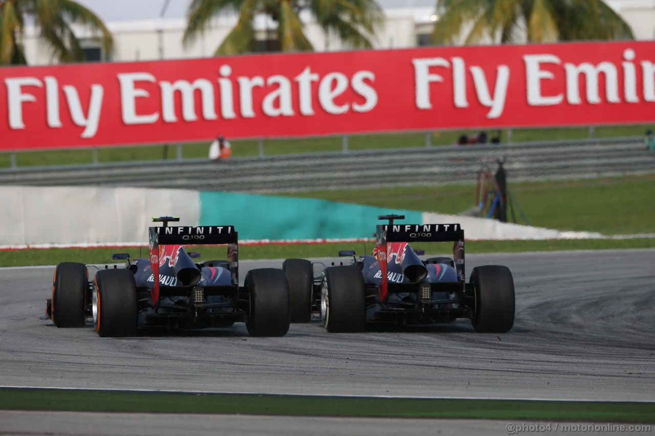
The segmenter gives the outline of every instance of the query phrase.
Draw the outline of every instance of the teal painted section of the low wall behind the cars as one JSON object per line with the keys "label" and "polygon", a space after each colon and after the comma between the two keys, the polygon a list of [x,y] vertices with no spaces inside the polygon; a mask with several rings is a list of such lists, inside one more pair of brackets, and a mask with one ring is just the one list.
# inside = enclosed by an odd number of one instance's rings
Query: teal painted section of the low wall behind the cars
{"label": "teal painted section of the low wall behind the cars", "polygon": [[236,192],[200,192],[200,225],[233,225],[240,240],[371,238],[377,215],[405,215],[422,224],[419,211]]}

